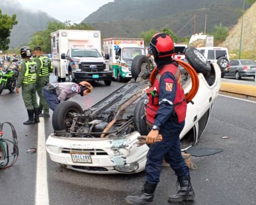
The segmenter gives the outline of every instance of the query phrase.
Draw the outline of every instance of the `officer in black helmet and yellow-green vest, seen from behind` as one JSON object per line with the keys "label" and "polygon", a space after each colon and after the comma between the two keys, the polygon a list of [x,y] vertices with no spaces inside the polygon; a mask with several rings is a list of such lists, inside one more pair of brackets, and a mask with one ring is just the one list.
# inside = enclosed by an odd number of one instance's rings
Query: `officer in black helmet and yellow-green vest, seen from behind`
{"label": "officer in black helmet and yellow-green vest, seen from behind", "polygon": [[[27,108],[28,120],[23,122],[24,125],[35,124],[39,122],[39,107],[36,101],[36,79],[37,64],[30,60],[32,56],[31,49],[27,46],[21,47],[21,70],[16,85],[16,93],[22,86],[22,98]],[[34,117],[35,114],[35,117]]]}

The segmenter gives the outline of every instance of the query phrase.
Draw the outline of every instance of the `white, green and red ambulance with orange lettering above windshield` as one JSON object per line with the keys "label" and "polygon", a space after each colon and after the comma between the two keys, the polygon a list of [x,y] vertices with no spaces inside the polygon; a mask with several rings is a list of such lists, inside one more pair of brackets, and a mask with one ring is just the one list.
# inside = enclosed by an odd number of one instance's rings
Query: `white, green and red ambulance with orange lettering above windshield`
{"label": "white, green and red ambulance with orange lettering above windshield", "polygon": [[103,39],[103,56],[109,56],[113,78],[122,82],[131,79],[131,65],[137,55],[146,55],[143,38]]}

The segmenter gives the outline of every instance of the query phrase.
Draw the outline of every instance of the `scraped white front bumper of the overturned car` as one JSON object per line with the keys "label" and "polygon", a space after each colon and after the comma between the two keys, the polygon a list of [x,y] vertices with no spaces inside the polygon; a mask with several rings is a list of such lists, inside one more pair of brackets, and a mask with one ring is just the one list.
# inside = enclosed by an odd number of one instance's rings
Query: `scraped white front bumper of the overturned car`
{"label": "scraped white front bumper of the overturned car", "polygon": [[[54,133],[46,141],[46,150],[52,161],[65,168],[85,173],[138,173],[145,169],[146,144],[137,147],[139,132],[122,138],[66,138]],[[71,153],[90,153],[92,163],[74,163]],[[117,167],[136,164],[136,170],[120,171]],[[122,168],[121,168],[122,169]]]}

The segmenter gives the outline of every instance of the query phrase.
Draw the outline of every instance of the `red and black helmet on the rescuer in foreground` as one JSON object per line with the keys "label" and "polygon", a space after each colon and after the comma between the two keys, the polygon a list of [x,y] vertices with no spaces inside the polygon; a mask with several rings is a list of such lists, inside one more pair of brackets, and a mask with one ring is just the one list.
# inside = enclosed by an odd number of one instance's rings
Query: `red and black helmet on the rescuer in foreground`
{"label": "red and black helmet on the rescuer in foreground", "polygon": [[155,34],[150,41],[152,53],[155,57],[163,58],[171,56],[174,52],[174,43],[170,35],[166,33]]}

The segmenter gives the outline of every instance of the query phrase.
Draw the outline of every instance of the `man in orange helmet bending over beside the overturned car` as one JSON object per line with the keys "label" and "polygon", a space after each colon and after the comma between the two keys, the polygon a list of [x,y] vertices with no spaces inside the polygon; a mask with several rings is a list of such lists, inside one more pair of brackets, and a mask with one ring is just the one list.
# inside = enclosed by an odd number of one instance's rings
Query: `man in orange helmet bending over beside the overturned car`
{"label": "man in orange helmet bending over beside the overturned car", "polygon": [[79,84],[70,82],[52,83],[43,88],[43,96],[52,110],[70,97],[77,94],[85,96],[90,92],[92,92],[92,85],[87,81],[82,81]]}

